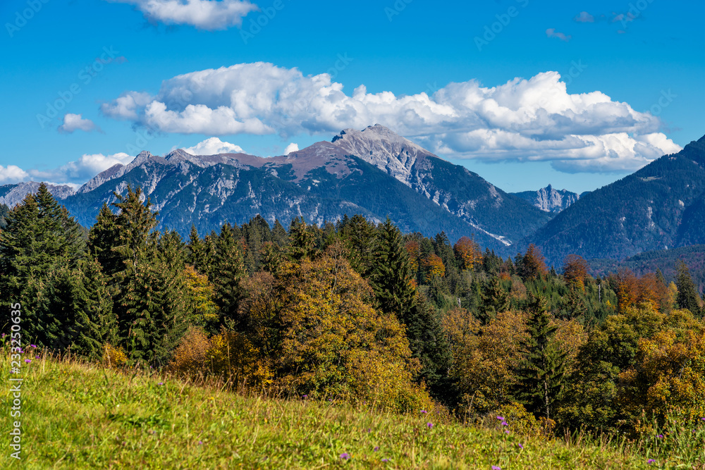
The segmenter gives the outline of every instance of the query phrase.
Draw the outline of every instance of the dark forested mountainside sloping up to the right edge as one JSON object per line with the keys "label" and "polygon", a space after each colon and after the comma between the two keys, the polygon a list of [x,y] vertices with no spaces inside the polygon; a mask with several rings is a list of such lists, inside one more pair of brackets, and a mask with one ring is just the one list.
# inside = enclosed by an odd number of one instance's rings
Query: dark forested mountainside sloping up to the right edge
{"label": "dark forested mountainside sloping up to the right edge", "polygon": [[529,242],[556,265],[570,253],[624,259],[704,244],[705,137],[580,197],[523,245]]}

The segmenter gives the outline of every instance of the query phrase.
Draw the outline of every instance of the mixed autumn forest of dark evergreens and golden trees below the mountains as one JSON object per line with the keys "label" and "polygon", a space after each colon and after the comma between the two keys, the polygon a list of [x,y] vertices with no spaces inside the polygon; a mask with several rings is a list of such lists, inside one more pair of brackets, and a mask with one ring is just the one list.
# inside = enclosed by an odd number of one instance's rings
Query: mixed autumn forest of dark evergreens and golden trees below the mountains
{"label": "mixed autumn forest of dark evergreens and golden trees below the mountains", "polygon": [[705,416],[703,301],[685,264],[591,276],[539,249],[502,259],[345,216],[257,216],[188,240],[128,187],[82,228],[42,185],[3,212],[4,330],[106,367],[224,378],[236,390],[511,416],[526,433],[640,435]]}

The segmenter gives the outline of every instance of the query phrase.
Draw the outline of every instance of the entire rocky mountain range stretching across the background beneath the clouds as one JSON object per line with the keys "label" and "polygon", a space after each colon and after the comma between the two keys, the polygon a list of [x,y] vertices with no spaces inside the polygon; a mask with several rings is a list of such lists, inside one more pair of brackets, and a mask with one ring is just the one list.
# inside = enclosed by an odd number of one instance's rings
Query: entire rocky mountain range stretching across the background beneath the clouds
{"label": "entire rocky mountain range stretching across the background beneath the clouds", "polygon": [[[566,254],[621,259],[639,252],[705,243],[705,137],[678,154],[589,193],[510,194],[381,125],[345,129],[288,155],[165,156],[142,151],[128,165],[99,173],[77,190],[49,190],[82,225],[92,225],[113,192],[140,186],[159,211],[160,228],[203,235],[257,214],[287,225],[362,214],[386,217],[405,232],[474,235],[483,247],[513,256],[534,242],[551,264]],[[13,206],[38,183],[0,186]]]}

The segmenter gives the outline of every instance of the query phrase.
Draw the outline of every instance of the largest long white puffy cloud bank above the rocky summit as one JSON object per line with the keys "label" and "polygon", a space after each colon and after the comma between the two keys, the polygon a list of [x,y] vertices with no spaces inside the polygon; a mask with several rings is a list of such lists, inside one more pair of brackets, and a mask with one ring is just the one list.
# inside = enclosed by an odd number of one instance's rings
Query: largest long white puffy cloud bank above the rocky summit
{"label": "largest long white puffy cloud bank above the rocky summit", "polygon": [[606,94],[570,94],[557,72],[484,87],[450,83],[433,94],[352,94],[327,73],[271,63],[178,75],[154,96],[127,92],[106,116],[155,132],[206,135],[331,135],[380,123],[451,158],[551,161],[562,171],[633,171],[680,147],[661,121]]}

